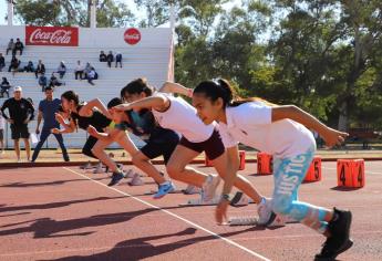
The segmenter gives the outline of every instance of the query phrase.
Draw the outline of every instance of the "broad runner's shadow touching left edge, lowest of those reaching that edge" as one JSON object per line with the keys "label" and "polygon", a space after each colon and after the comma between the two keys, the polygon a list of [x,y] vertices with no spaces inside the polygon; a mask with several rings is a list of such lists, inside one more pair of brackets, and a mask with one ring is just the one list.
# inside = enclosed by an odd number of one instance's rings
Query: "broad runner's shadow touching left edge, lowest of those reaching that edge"
{"label": "broad runner's shadow touching left edge, lowest of those reaching that edge", "polygon": [[73,236],[87,236],[93,233],[94,231],[89,232],[81,232],[81,233],[64,233],[59,234],[61,232],[75,230],[75,229],[83,229],[83,228],[96,228],[103,227],[113,223],[121,223],[126,222],[133,218],[140,217],[141,215],[145,215],[152,211],[158,211],[154,208],[147,208],[137,211],[131,212],[121,212],[121,213],[106,213],[106,215],[96,215],[86,218],[78,218],[78,219],[70,219],[70,220],[60,220],[56,221],[51,218],[41,218],[37,220],[23,221],[19,223],[6,225],[1,226],[0,229],[12,227],[12,226],[20,226],[23,223],[30,223],[28,227],[23,228],[13,228],[9,230],[0,230],[1,236],[9,236],[9,234],[18,234],[18,233],[34,233],[34,238],[61,238],[61,237],[73,237]]}

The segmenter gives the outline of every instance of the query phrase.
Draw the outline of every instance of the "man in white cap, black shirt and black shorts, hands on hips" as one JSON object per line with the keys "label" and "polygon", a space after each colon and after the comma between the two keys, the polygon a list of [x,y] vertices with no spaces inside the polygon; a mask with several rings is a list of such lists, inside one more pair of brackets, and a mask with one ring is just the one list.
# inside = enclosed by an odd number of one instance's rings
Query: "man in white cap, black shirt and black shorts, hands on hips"
{"label": "man in white cap, black shirt and black shorts, hands on hips", "polygon": [[[29,144],[28,123],[34,117],[33,105],[22,97],[22,88],[17,86],[13,91],[14,96],[4,102],[1,107],[1,114],[11,124],[12,139],[14,142],[14,152],[20,161],[19,139],[22,138],[25,145],[27,158],[30,161],[31,147]],[[9,115],[4,113],[8,108]]]}

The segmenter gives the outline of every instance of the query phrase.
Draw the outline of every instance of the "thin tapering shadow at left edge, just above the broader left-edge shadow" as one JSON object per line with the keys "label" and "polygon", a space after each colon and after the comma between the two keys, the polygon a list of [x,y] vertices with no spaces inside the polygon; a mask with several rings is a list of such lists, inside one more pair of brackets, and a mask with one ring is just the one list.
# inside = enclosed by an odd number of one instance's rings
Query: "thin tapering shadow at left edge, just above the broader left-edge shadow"
{"label": "thin tapering shadow at left edge, just above the broader left-edge shadow", "polygon": [[50,202],[50,203],[40,203],[40,205],[25,205],[25,206],[9,206],[9,207],[0,207],[0,213],[7,211],[19,211],[19,210],[41,210],[41,209],[51,209],[51,208],[62,208],[68,207],[73,203],[85,203],[92,201],[103,201],[103,200],[112,200],[125,198],[122,197],[97,197],[97,198],[90,198],[90,199],[79,199],[79,200],[70,200],[70,201],[61,201],[61,202]]}

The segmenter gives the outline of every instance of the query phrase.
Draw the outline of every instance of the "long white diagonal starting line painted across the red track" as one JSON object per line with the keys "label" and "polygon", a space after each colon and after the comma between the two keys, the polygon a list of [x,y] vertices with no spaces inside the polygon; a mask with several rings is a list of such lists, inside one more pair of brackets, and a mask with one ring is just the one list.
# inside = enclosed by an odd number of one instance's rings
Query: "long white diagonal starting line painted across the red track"
{"label": "long white diagonal starting line painted across the red track", "polygon": [[155,205],[152,205],[152,203],[149,203],[149,202],[147,202],[147,201],[145,201],[145,200],[143,200],[143,199],[140,199],[140,198],[134,197],[134,196],[132,196],[132,195],[130,195],[130,194],[126,194],[126,192],[124,192],[124,191],[121,191],[121,190],[118,190],[118,189],[116,189],[116,188],[114,188],[114,187],[109,187],[107,185],[105,185],[105,184],[103,184],[103,182],[100,182],[100,181],[97,181],[97,180],[94,180],[94,179],[92,179],[92,178],[90,178],[90,177],[87,177],[87,176],[85,176],[85,175],[83,175],[83,174],[80,174],[80,173],[78,173],[78,171],[74,171],[74,170],[72,170],[72,169],[70,169],[70,168],[63,167],[63,169],[65,169],[65,170],[68,170],[68,171],[71,171],[71,173],[73,173],[73,174],[76,174],[76,175],[79,175],[79,176],[81,176],[81,177],[83,177],[83,178],[85,178],[85,179],[89,179],[89,180],[91,180],[91,181],[93,181],[93,182],[95,182],[95,184],[97,184],[97,185],[101,185],[101,186],[103,186],[103,187],[105,187],[105,188],[107,188],[107,189],[110,189],[110,190],[114,190],[115,192],[118,192],[118,194],[121,194],[121,195],[127,196],[127,197],[130,197],[130,198],[132,198],[132,199],[134,199],[134,200],[136,200],[136,201],[138,201],[138,202],[141,202],[141,203],[143,203],[143,205],[146,205],[146,206],[148,206],[148,207],[151,207],[151,208],[158,209],[158,210],[161,210],[161,211],[163,211],[163,212],[165,212],[165,213],[167,213],[167,215],[169,215],[169,216],[172,216],[172,217],[174,217],[174,218],[176,218],[176,219],[179,219],[179,220],[182,220],[182,221],[184,221],[184,222],[186,222],[186,223],[193,226],[194,228],[200,229],[200,230],[205,231],[206,233],[209,233],[209,234],[211,234],[213,237],[215,237],[215,238],[217,238],[217,239],[220,239],[220,240],[225,241],[225,242],[228,243],[228,244],[231,244],[231,246],[234,246],[234,247],[236,247],[236,248],[239,248],[239,249],[244,250],[245,252],[251,254],[252,257],[256,257],[256,258],[258,258],[258,259],[260,259],[260,260],[270,261],[270,259],[267,259],[266,257],[264,257],[264,255],[261,255],[261,254],[259,254],[259,253],[257,253],[257,252],[255,252],[255,251],[252,251],[252,250],[250,250],[250,249],[247,249],[246,247],[242,247],[241,244],[238,244],[238,243],[236,243],[235,241],[233,241],[233,240],[230,240],[230,239],[227,239],[227,238],[225,238],[225,237],[221,237],[221,236],[219,236],[219,234],[217,234],[217,233],[215,233],[215,232],[213,232],[213,231],[210,231],[210,230],[208,230],[208,229],[206,229],[206,228],[204,228],[204,227],[202,227],[202,226],[199,226],[199,225],[197,225],[197,223],[194,223],[193,221],[189,221],[188,219],[185,219],[185,218],[183,218],[183,217],[180,217],[180,216],[178,216],[178,215],[176,215],[176,213],[173,213],[173,212],[171,212],[171,211],[168,211],[168,210],[166,210],[166,209],[162,209],[162,208],[159,208],[159,207],[157,207],[157,206],[155,206]]}

